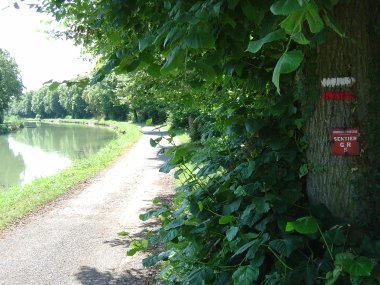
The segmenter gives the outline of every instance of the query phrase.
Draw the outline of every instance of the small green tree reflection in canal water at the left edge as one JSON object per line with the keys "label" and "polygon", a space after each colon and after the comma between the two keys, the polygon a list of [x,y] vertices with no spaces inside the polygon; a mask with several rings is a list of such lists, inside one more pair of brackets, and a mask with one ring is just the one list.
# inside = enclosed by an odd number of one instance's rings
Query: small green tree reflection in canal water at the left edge
{"label": "small green tree reflection in canal water at the left edge", "polygon": [[0,188],[20,184],[20,174],[24,169],[22,156],[16,156],[9,149],[7,136],[0,136]]}

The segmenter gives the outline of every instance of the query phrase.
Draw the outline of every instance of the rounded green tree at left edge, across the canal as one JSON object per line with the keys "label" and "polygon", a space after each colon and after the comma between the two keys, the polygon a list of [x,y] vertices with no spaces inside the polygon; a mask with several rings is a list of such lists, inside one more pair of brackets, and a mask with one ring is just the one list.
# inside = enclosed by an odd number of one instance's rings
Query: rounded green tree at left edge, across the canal
{"label": "rounded green tree at left edge, across the canal", "polygon": [[0,124],[4,121],[4,111],[12,98],[22,93],[22,81],[16,61],[9,52],[0,49]]}

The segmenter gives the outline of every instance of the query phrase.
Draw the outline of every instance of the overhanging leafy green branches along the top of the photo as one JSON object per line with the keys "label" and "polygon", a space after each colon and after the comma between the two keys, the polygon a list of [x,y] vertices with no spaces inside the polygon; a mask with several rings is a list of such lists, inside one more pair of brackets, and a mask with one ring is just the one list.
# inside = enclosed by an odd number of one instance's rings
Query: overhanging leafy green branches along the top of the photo
{"label": "overhanging leafy green branches along the top of the photo", "polygon": [[159,74],[175,75],[191,62],[195,69],[208,66],[200,71],[210,71],[213,80],[223,73],[248,78],[273,70],[279,92],[281,75],[302,62],[300,52],[292,49],[315,44],[313,35],[326,27],[339,30],[329,16],[335,2],[113,0],[92,7],[87,0],[80,5],[45,1],[40,8],[63,19],[67,37],[102,56],[104,66],[96,80],[114,69],[146,69],[157,75],[157,66]]}

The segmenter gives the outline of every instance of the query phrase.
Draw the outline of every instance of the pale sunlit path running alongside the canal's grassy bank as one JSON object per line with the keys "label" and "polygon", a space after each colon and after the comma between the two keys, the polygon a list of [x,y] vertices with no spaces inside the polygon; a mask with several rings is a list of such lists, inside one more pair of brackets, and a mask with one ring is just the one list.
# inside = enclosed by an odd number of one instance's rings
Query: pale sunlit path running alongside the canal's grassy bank
{"label": "pale sunlit path running alongside the canal's grassy bank", "polygon": [[131,237],[144,229],[140,213],[156,196],[171,194],[173,180],[158,172],[163,159],[149,145],[151,128],[82,192],[34,216],[0,239],[0,284],[148,284],[142,254],[126,256]]}

